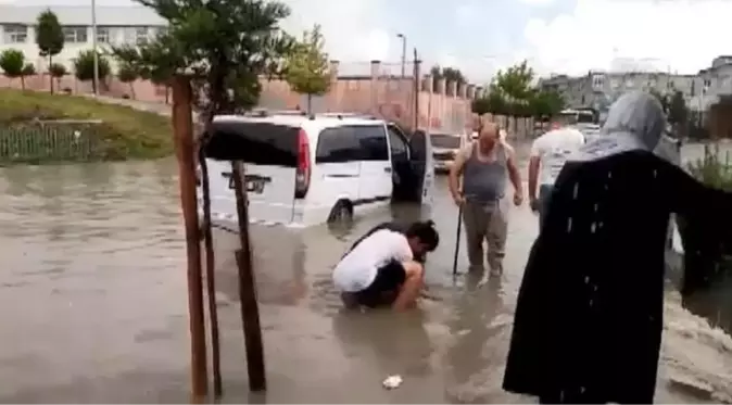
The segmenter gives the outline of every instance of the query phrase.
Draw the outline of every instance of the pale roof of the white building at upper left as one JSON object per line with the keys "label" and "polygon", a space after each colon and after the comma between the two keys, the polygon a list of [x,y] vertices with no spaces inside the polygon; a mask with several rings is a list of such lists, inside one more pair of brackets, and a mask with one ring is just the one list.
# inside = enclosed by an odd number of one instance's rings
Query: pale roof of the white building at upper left
{"label": "pale roof of the white building at upper left", "polygon": [[[51,9],[61,25],[91,25],[90,5],[14,5],[0,4],[0,24],[35,25],[38,14]],[[97,5],[97,24],[106,26],[161,26],[167,22],[142,5]]]}

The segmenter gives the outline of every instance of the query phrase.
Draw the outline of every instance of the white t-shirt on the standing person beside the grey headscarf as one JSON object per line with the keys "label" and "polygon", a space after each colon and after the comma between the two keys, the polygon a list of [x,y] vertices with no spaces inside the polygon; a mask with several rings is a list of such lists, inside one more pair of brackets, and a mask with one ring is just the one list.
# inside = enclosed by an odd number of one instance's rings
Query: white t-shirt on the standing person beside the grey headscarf
{"label": "white t-shirt on the standing person beside the grey headscarf", "polygon": [[553,129],[531,145],[531,156],[541,159],[540,185],[554,185],[569,155],[584,144],[584,135],[573,128]]}

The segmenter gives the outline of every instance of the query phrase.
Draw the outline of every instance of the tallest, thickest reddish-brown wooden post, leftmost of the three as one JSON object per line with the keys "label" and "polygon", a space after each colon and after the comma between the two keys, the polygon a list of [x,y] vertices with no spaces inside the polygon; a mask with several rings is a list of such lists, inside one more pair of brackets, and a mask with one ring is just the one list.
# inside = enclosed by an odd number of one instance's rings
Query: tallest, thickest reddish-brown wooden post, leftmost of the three
{"label": "tallest, thickest reddish-brown wooden post, leftmost of the three", "polygon": [[203,315],[203,281],[201,280],[201,245],[199,239],[198,202],[195,201],[195,164],[193,153],[192,94],[190,81],[184,76],[173,79],[173,136],[180,181],[180,206],[186,226],[188,258],[188,313],[191,333],[192,394],[204,396],[209,391],[206,372],[206,336]]}

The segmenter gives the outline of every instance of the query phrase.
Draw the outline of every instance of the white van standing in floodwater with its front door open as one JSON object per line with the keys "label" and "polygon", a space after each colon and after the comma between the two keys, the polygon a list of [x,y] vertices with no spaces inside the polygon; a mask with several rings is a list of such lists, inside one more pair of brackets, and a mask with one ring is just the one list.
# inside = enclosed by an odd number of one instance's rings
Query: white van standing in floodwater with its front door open
{"label": "white van standing in floodwater with its front door open", "polygon": [[[244,164],[250,222],[311,226],[391,200],[431,204],[429,138],[354,116],[222,115],[204,147],[214,218],[236,218],[231,160]],[[200,190],[199,190],[200,195]]]}

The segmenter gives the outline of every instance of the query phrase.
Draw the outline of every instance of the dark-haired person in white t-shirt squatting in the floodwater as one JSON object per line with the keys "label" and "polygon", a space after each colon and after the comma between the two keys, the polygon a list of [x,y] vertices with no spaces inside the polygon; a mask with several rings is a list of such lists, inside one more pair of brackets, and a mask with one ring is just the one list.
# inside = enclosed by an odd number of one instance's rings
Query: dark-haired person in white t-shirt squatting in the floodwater
{"label": "dark-haired person in white t-shirt squatting in the floodwater", "polygon": [[406,231],[380,225],[371,229],[333,269],[333,283],[348,307],[391,305],[404,311],[416,304],[424,287],[424,260],[440,242],[431,220]]}

